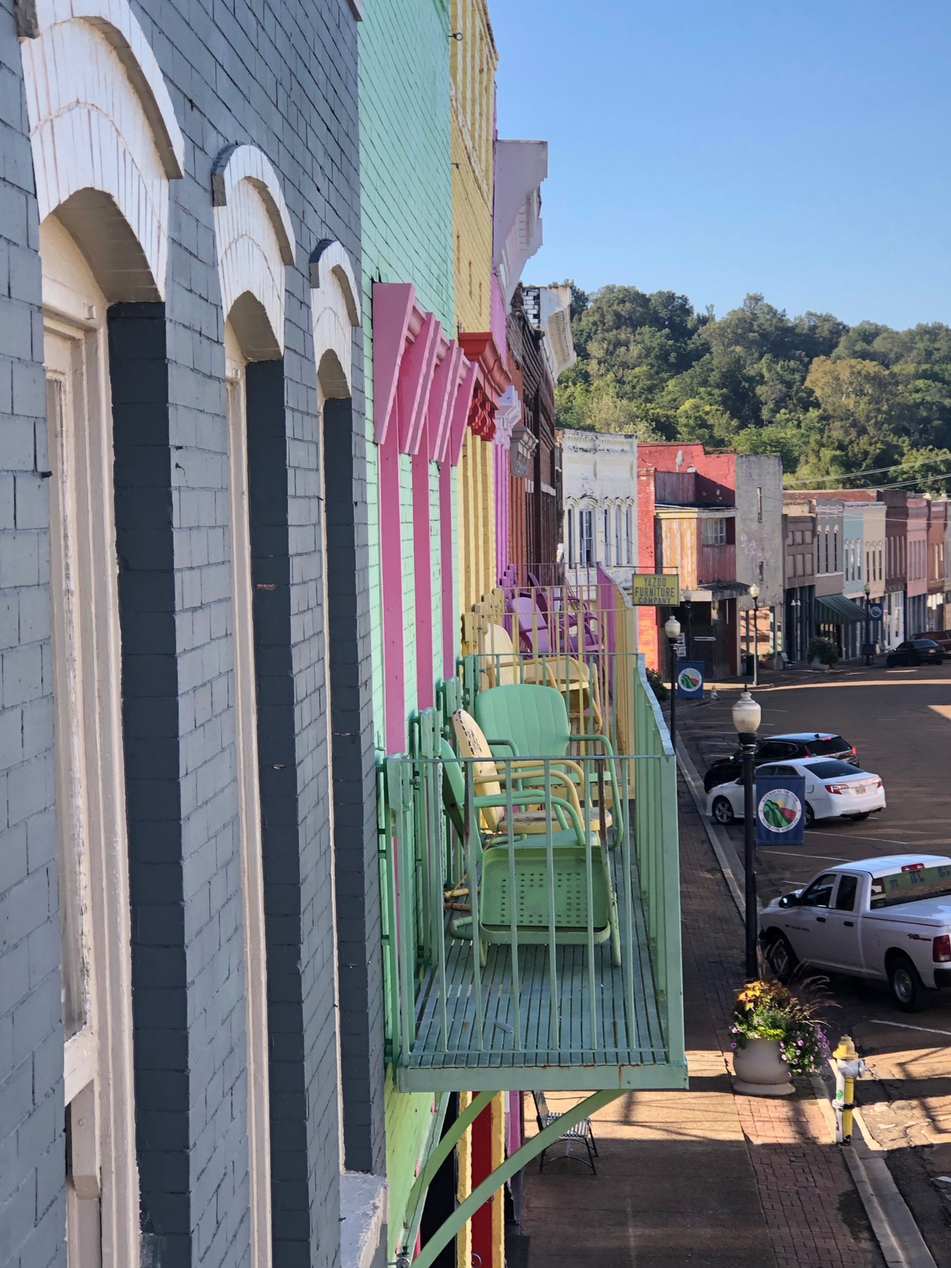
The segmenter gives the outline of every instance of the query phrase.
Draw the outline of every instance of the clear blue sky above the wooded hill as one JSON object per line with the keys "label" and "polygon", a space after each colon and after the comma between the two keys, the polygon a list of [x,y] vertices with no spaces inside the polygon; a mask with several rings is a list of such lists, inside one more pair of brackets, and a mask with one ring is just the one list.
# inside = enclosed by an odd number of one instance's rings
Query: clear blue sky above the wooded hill
{"label": "clear blue sky above the wooded hill", "polygon": [[489,0],[526,280],[951,323],[951,0]]}

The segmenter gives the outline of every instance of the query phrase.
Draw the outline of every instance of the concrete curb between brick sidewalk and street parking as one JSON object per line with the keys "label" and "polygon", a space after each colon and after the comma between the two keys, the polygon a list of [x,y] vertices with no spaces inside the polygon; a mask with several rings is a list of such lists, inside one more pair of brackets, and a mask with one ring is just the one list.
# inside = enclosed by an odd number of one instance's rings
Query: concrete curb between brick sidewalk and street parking
{"label": "concrete curb between brick sidewalk and street parking", "polygon": [[[706,817],[704,781],[681,741],[677,741],[677,765],[742,919],[746,912],[743,862],[727,831],[719,824],[711,823]],[[828,1089],[818,1075],[812,1082],[823,1116],[831,1121],[834,1130],[836,1116],[829,1102]],[[842,1150],[842,1155],[888,1268],[937,1268],[932,1253],[914,1222],[914,1216],[908,1210],[908,1205],[885,1164],[885,1159],[876,1156],[872,1150],[883,1153],[881,1146],[871,1139],[871,1134],[865,1129],[861,1113],[856,1110],[853,1142],[851,1148]]]}

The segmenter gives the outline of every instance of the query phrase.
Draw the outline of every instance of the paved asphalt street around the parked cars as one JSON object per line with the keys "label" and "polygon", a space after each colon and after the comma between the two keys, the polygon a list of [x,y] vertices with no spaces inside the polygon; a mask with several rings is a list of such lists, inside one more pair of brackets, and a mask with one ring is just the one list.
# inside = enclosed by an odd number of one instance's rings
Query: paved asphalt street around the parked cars
{"label": "paved asphalt street around the parked cars", "polygon": [[[735,747],[735,687],[681,713],[681,735],[701,772]],[[796,848],[758,851],[763,900],[809,880],[825,865],[900,851],[951,850],[951,666],[771,675],[756,692],[761,734],[832,730],[883,776],[888,809],[860,823],[823,822]],[[742,852],[742,828],[728,829]],[[910,1017],[884,988],[834,978],[833,1033],[848,1032],[872,1066],[860,1103],[936,1260],[951,1265],[951,993]]]}

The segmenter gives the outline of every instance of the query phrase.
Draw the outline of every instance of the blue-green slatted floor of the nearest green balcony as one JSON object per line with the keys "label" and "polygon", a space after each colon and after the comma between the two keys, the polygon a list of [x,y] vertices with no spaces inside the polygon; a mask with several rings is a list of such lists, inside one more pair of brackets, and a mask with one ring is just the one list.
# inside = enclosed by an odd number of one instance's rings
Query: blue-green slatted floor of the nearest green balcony
{"label": "blue-green slatted floor of the nearest green balcony", "polygon": [[[612,852],[615,879],[619,853]],[[416,1038],[408,1059],[397,1068],[397,1087],[402,1090],[465,1088],[473,1092],[686,1087],[686,1066],[671,1063],[667,1056],[663,1006],[654,985],[637,876],[631,888],[635,895],[633,954],[628,956],[624,945],[624,895],[616,885],[623,965],[611,965],[609,942],[595,947],[593,1018],[586,946],[555,948],[554,990],[548,945],[519,947],[521,989],[516,1017],[511,948],[507,945],[488,947],[477,994],[473,943],[448,936],[445,1022],[440,973],[430,969],[417,994]],[[629,973],[633,993],[625,989]],[[516,1026],[520,1046],[516,1046]],[[449,1036],[448,1042],[444,1033]]]}

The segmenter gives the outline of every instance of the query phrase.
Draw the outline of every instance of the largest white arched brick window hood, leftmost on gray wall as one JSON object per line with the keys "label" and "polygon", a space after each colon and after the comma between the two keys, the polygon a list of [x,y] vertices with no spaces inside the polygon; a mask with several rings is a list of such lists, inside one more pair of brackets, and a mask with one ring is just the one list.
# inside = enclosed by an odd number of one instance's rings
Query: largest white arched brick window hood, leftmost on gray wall
{"label": "largest white arched brick window hood, leftmost on gray wall", "polygon": [[145,33],[128,0],[38,0],[37,29],[20,51],[39,218],[72,199],[63,219],[104,261],[107,298],[164,297],[185,142]]}

